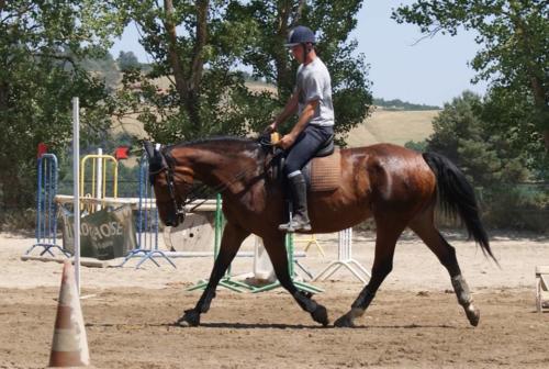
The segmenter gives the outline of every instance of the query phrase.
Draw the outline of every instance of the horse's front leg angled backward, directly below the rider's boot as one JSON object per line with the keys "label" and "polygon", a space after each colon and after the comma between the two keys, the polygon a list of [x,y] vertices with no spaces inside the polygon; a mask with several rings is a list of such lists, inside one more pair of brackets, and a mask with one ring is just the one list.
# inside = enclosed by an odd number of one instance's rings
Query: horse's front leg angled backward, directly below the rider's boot
{"label": "horse's front leg angled backward, directly below the rider's boot", "polygon": [[313,320],[323,326],[328,325],[328,313],[326,308],[311,298],[311,293],[304,293],[298,290],[293,284],[288,266],[288,254],[284,245],[284,234],[280,233],[273,237],[264,237],[265,249],[269,254],[274,272],[280,284],[290,292],[298,304],[311,314]]}

